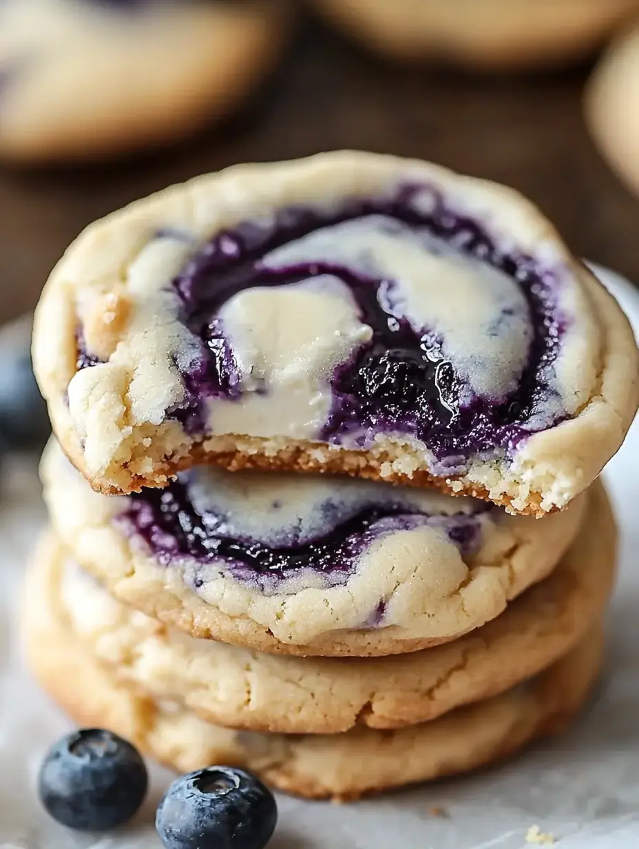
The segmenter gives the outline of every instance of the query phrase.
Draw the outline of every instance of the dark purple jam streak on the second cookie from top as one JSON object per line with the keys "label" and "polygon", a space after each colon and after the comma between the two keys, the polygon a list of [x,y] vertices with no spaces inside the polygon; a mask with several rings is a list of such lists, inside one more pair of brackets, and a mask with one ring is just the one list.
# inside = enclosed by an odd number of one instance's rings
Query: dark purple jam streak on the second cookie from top
{"label": "dark purple jam streak on the second cookie from top", "polygon": [[142,537],[165,565],[181,558],[204,565],[221,563],[233,576],[252,581],[255,576],[285,579],[305,569],[348,576],[361,554],[380,537],[423,526],[439,529],[468,556],[481,541],[480,517],[490,510],[483,503],[474,507],[473,513],[426,514],[399,500],[380,498],[378,504],[368,503],[354,514],[346,511],[343,521],[335,517],[328,532],[304,537],[301,543],[299,533],[290,533],[284,540],[279,535],[277,545],[270,545],[255,537],[225,533],[228,523],[223,513],[199,512],[188,473],[184,473],[164,490],[134,493],[117,521],[128,534]]}

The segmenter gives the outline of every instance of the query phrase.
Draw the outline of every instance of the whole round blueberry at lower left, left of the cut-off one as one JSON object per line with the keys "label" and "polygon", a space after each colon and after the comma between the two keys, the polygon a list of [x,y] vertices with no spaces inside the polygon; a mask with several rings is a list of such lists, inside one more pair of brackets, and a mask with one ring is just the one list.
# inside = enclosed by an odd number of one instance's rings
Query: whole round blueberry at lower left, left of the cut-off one
{"label": "whole round blueberry at lower left, left of the cut-off one", "polygon": [[59,823],[79,831],[107,831],[130,820],[147,792],[142,757],[125,739],[87,728],[51,747],[40,767],[42,805]]}

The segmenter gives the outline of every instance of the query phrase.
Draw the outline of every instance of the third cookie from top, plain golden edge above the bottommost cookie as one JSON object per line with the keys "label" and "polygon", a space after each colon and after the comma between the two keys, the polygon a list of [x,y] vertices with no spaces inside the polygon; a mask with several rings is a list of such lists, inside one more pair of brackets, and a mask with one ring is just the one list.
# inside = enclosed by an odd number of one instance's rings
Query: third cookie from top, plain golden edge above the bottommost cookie
{"label": "third cookie from top, plain golden edge above the bottommost cookie", "polygon": [[552,576],[474,633],[390,658],[274,657],[193,639],[115,601],[52,533],[26,586],[44,593],[98,661],[157,700],[178,700],[229,728],[338,734],[427,722],[551,666],[603,615],[614,548],[614,521],[597,486],[591,521]]}

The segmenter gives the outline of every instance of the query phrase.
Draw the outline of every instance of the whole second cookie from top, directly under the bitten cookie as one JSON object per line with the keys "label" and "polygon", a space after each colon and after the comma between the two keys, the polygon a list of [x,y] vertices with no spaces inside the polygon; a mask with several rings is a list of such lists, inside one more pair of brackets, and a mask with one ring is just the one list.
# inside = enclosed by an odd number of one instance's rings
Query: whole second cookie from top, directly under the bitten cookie
{"label": "whole second cookie from top, directly under the bitten cookie", "polygon": [[61,541],[116,598],[195,637],[299,655],[395,654],[483,625],[557,565],[587,498],[538,521],[429,490],[210,466],[108,498],[54,443],[42,481]]}

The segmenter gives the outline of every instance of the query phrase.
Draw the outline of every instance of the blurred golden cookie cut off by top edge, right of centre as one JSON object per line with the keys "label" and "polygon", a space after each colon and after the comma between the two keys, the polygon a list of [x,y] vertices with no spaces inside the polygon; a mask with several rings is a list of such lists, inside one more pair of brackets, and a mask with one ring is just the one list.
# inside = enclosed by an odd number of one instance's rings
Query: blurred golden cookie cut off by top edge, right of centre
{"label": "blurred golden cookie cut off by top edge, right of centre", "polygon": [[376,53],[471,70],[568,65],[594,51],[636,0],[314,0]]}

